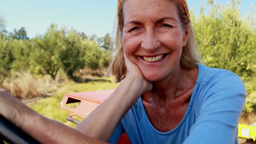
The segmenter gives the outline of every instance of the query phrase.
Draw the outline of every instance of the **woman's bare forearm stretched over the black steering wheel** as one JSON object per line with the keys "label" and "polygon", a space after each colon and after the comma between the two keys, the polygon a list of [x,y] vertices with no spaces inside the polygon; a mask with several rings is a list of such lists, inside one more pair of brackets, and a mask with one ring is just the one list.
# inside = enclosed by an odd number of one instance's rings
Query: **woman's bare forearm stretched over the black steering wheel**
{"label": "woman's bare forearm stretched over the black steering wheel", "polygon": [[104,143],[45,118],[0,89],[0,114],[40,143]]}

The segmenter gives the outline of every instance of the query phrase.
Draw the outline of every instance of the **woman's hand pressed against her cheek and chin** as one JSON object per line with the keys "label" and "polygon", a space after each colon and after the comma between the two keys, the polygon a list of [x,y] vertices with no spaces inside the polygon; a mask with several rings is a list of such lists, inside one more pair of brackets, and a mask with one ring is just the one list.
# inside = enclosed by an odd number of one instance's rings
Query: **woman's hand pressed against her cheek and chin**
{"label": "woman's hand pressed against her cheek and chin", "polygon": [[141,73],[141,70],[138,68],[138,66],[134,63],[132,63],[124,54],[125,58],[125,66],[127,69],[127,74],[125,79],[132,79],[135,83],[135,91],[138,91],[138,96],[140,97],[143,93],[150,91],[153,87],[152,82],[147,81],[144,79],[144,76]]}

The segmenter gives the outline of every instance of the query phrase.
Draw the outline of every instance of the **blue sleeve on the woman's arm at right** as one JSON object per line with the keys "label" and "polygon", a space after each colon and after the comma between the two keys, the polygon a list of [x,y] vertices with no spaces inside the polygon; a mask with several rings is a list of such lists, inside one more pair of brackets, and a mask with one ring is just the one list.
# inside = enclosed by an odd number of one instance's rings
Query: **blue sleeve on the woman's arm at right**
{"label": "blue sleeve on the woman's arm at right", "polygon": [[184,143],[237,143],[246,92],[241,79],[225,71],[202,83],[199,117]]}

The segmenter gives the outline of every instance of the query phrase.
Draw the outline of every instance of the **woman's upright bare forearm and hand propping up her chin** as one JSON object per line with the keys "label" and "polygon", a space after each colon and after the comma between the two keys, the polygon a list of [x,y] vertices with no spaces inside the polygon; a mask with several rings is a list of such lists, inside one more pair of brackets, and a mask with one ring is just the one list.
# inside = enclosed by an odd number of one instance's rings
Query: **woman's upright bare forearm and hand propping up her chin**
{"label": "woman's upright bare forearm and hand propping up her chin", "polygon": [[125,57],[128,73],[117,89],[97,107],[77,130],[98,140],[108,141],[118,122],[125,113],[135,104],[136,100],[152,89],[152,83],[144,79],[137,65]]}

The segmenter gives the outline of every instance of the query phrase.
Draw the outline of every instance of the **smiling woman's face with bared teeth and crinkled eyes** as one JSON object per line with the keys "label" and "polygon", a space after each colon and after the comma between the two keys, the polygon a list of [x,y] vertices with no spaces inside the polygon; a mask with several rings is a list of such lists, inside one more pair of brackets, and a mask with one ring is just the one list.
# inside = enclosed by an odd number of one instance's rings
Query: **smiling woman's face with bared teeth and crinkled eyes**
{"label": "smiling woman's face with bared teeth and crinkled eyes", "polygon": [[126,0],[123,48],[145,79],[160,81],[179,70],[188,29],[170,0]]}

